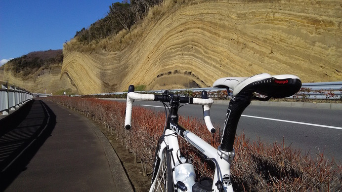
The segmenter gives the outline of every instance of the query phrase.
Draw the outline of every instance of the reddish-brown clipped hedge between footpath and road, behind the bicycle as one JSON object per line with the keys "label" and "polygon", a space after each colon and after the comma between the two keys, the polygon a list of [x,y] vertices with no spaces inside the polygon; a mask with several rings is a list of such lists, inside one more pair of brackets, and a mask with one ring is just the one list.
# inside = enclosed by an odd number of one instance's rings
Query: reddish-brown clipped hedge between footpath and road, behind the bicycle
{"label": "reddish-brown clipped hedge between footpath and road, behind the bicycle", "polygon": [[[156,144],[163,132],[165,114],[134,107],[132,128],[124,129],[125,102],[113,102],[95,98],[67,96],[47,97],[93,118],[113,130],[127,149],[136,154],[144,164],[153,165]],[[220,134],[207,131],[203,120],[180,117],[180,124],[212,144],[219,145]],[[190,126],[191,125],[191,126]],[[220,127],[216,127],[220,128]],[[203,160],[197,151],[180,139],[180,147],[198,172],[197,176],[213,176],[214,167]],[[261,141],[250,142],[244,135],[236,137],[235,159],[231,167],[235,191],[341,191],[342,166],[328,160],[323,154],[312,159],[300,151],[284,147],[284,144],[265,145]],[[146,166],[144,166],[146,171]]]}

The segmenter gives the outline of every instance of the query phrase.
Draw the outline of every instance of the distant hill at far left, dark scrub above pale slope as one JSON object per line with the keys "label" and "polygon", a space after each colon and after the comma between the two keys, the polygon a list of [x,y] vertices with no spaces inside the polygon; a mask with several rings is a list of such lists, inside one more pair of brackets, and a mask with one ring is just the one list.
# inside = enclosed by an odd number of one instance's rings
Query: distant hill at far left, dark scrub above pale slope
{"label": "distant hill at far left, dark scrub above pale slope", "polygon": [[70,89],[76,92],[69,78],[60,78],[62,50],[35,51],[15,58],[0,67],[0,80],[8,81],[33,93],[56,93]]}

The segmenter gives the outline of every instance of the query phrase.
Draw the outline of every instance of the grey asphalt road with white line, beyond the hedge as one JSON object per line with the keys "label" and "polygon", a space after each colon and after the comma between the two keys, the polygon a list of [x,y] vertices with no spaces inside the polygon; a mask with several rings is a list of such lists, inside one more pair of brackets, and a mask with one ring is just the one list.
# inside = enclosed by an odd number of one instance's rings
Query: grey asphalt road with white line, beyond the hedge
{"label": "grey asphalt road with white line, beyond the hedge", "polygon": [[[155,110],[164,110],[160,102],[135,101]],[[215,104],[211,109],[214,126],[223,128],[227,105]],[[187,105],[179,115],[203,118],[202,106]],[[284,121],[285,120],[285,121]],[[342,115],[341,110],[288,107],[249,106],[241,116],[237,134],[245,133],[251,141],[259,139],[266,144],[282,143],[315,157],[322,153],[342,163]]]}

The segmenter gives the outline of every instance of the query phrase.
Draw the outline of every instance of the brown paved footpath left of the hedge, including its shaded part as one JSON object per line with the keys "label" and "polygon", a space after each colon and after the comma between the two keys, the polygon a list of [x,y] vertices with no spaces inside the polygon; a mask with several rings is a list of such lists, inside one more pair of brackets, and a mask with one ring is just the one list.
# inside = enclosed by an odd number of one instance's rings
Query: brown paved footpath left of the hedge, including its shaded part
{"label": "brown paved footpath left of the hedge, including its shaded part", "polygon": [[108,140],[85,116],[41,100],[21,108],[0,120],[0,191],[133,191]]}

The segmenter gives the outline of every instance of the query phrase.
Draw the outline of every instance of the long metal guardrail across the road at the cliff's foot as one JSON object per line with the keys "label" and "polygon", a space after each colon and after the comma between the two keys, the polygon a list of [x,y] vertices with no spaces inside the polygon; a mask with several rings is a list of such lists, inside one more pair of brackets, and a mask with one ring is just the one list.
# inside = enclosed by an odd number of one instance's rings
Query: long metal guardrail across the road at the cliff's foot
{"label": "long metal guardrail across the road at the cliff's foot", "polygon": [[[303,95],[307,99],[331,99],[337,100],[342,98],[342,81],[334,81],[334,82],[315,82],[315,83],[302,83],[302,88],[307,88],[308,92],[302,92]],[[224,88],[215,88],[215,87],[207,87],[207,88],[188,88],[188,89],[172,89],[171,91],[219,91],[225,90]],[[146,93],[160,93],[161,90],[153,90],[153,91],[137,91],[137,92],[146,92]],[[114,92],[114,93],[98,93],[92,95],[119,95],[125,94],[127,92]],[[294,97],[288,97],[294,98]]]}

